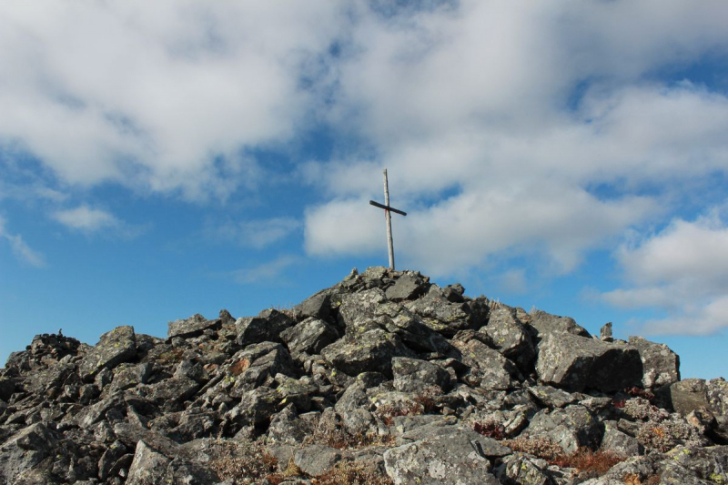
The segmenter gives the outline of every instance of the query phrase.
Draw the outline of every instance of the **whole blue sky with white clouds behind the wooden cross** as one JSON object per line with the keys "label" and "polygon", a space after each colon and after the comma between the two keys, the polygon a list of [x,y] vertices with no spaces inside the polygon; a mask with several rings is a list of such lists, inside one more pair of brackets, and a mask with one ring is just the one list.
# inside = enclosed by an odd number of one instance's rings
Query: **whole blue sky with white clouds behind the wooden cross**
{"label": "whole blue sky with white clouds behind the wooden cross", "polygon": [[0,5],[0,360],[387,264],[728,375],[728,3]]}

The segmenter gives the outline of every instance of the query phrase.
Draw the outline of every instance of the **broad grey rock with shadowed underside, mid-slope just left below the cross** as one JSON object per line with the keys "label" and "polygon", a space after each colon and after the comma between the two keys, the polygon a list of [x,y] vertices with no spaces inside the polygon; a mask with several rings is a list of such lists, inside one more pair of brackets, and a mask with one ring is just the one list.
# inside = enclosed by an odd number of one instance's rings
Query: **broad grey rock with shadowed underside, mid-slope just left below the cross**
{"label": "broad grey rock with shadowed underside, mid-slope just left below the cross", "polygon": [[372,329],[356,337],[347,335],[340,338],[322,349],[321,356],[349,376],[369,370],[391,376],[392,358],[416,357],[397,334],[380,329]]}

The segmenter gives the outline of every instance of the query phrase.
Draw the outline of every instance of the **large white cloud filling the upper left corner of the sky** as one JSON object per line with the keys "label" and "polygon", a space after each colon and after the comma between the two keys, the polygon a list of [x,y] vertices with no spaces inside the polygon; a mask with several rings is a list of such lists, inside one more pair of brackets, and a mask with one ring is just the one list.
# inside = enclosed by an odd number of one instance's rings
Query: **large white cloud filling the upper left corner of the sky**
{"label": "large white cloud filling the upper left corner of the sky", "polygon": [[0,142],[73,185],[187,197],[253,187],[339,28],[328,2],[0,5]]}

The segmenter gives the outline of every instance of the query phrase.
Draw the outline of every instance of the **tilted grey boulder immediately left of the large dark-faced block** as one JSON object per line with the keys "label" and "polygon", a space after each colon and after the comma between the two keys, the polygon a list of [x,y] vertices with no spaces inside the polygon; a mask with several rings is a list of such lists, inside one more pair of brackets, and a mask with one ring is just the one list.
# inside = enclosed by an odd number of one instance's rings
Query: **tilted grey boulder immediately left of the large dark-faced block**
{"label": "tilted grey boulder immediately left of the large dark-faced block", "polygon": [[531,335],[516,317],[515,308],[500,306],[490,309],[488,325],[480,328],[489,347],[514,361],[519,369],[529,371],[536,359]]}

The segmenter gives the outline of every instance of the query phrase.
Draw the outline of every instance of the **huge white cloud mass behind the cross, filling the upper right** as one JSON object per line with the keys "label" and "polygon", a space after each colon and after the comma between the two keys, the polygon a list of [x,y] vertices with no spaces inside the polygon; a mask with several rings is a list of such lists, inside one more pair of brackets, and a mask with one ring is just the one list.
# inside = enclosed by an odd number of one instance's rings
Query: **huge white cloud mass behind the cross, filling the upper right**
{"label": "huge white cloud mass behind the cross, filling the upper right", "polygon": [[333,195],[309,207],[308,253],[381,246],[362,204],[380,197],[381,167],[393,204],[410,212],[395,246],[432,274],[493,255],[538,255],[569,272],[661,220],[695,184],[728,173],[728,98],[651,76],[728,46],[714,16],[728,6],[710,9],[464,1],[383,18],[359,8],[329,115],[375,150],[302,170]]}

